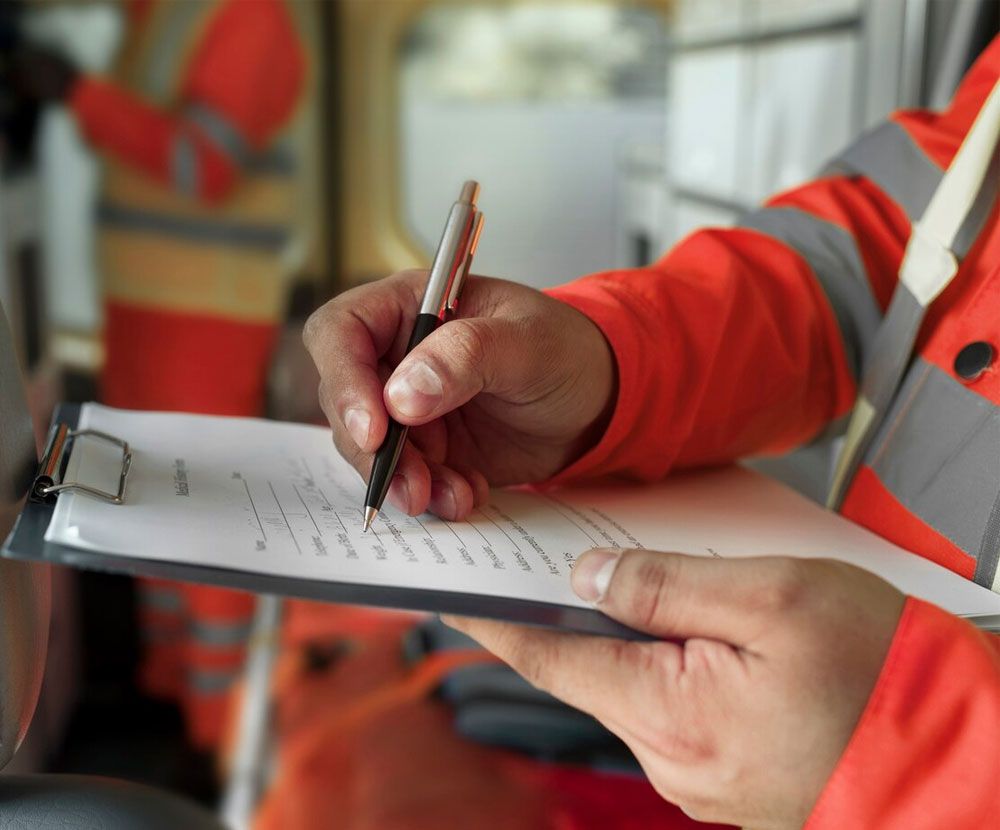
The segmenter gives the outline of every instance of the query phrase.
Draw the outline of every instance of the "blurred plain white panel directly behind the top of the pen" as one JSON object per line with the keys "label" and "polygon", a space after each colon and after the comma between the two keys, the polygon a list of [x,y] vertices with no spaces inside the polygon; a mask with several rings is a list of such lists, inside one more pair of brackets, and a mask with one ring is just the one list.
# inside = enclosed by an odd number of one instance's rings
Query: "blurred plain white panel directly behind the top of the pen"
{"label": "blurred plain white panel directly behind the top of the pen", "polygon": [[476,271],[538,288],[615,264],[618,161],[664,132],[657,101],[404,100],[401,116],[403,216],[428,255],[473,178],[486,215]]}

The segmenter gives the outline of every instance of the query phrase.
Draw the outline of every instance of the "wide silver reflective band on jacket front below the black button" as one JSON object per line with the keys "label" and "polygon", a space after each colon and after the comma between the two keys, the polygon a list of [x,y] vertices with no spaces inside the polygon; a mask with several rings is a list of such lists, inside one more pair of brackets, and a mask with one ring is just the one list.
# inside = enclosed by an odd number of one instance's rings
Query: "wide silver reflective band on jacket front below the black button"
{"label": "wide silver reflective band on jacket front below the black button", "polygon": [[917,358],[865,461],[911,513],[977,555],[1000,489],[1000,408]]}

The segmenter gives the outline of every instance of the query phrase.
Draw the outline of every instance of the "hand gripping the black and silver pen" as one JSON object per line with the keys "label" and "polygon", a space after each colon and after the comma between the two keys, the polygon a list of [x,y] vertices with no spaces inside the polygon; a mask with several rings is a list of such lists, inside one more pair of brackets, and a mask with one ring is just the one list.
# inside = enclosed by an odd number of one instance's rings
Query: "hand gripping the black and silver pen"
{"label": "hand gripping the black and silver pen", "polygon": [[413,347],[425,271],[338,295],[304,332],[334,443],[366,481],[391,422],[408,428],[387,498],[411,515],[464,519],[490,486],[551,477],[597,442],[616,397],[614,357],[586,316],[467,271],[442,295],[453,306],[461,290],[460,314],[442,325],[431,303],[436,328]]}

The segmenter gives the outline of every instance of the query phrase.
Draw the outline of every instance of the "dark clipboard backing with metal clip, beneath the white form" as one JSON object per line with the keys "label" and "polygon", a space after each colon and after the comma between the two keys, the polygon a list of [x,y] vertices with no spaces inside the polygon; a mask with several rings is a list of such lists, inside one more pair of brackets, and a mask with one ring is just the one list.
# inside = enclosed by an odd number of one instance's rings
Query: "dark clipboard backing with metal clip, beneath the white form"
{"label": "dark clipboard backing with metal clip, beneath the white form", "polygon": [[[68,565],[84,570],[128,576],[195,582],[259,594],[276,594],[376,608],[485,617],[618,639],[655,639],[589,608],[486,594],[282,577],[230,568],[214,568],[208,565],[138,559],[47,542],[45,532],[52,521],[55,503],[60,493],[82,492],[89,497],[103,498],[118,504],[125,504],[128,500],[127,480],[132,448],[117,436],[93,431],[77,433],[80,411],[79,404],[61,404],[56,410],[46,450],[31,492],[21,514],[15,520],[10,535],[4,541],[3,548],[0,549],[0,554],[3,556],[38,564]],[[117,493],[95,490],[86,482],[63,480],[65,466],[72,452],[72,442],[84,438],[111,441],[122,448],[122,474]]]}

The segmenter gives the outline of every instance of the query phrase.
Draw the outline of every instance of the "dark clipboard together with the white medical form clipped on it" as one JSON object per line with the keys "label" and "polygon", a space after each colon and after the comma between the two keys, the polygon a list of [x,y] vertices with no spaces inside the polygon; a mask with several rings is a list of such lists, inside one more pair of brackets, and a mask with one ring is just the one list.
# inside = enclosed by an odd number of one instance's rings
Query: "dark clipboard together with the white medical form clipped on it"
{"label": "dark clipboard together with the white medical form clipped on it", "polygon": [[[98,435],[77,432],[81,424],[105,432]],[[240,435],[241,438],[234,441],[233,435]],[[131,446],[119,436],[127,436]],[[67,459],[72,447],[81,447],[81,442],[94,443],[82,445],[80,459],[98,457],[101,459],[98,466],[87,468],[82,461],[77,463],[76,454]],[[248,451],[254,447],[267,447],[263,451],[264,456],[256,462],[252,452],[248,456]],[[395,527],[383,517],[386,527],[380,532],[384,538],[379,541],[364,537],[367,541],[363,544],[370,547],[362,559],[358,559],[355,551],[354,559],[359,564],[351,565],[351,543],[341,540],[336,525],[343,529],[344,539],[351,538],[344,522],[352,521],[351,511],[359,515],[361,511],[353,500],[354,476],[352,474],[347,483],[350,468],[339,456],[333,454],[330,458],[330,449],[326,432],[307,425],[183,413],[128,412],[90,404],[61,406],[53,419],[52,433],[38,475],[34,479],[30,475],[25,477],[22,493],[31,492],[32,497],[26,500],[0,553],[5,557],[36,563],[173,579],[254,593],[485,617],[629,640],[652,639],[592,607],[566,602],[563,588],[550,592],[542,586],[543,590],[536,590],[541,585],[540,581],[536,581],[536,576],[540,578],[537,567],[528,582],[516,579],[518,565],[523,566],[527,562],[525,555],[531,556],[532,551],[537,551],[539,556],[537,561],[532,560],[535,566],[538,562],[555,565],[560,551],[586,548],[582,534],[596,544],[601,533],[614,532],[639,547],[679,550],[695,555],[706,555],[702,551],[706,551],[707,555],[718,555],[716,550],[724,551],[727,556],[773,555],[773,551],[779,549],[788,555],[810,557],[828,556],[832,548],[839,551],[839,559],[872,571],[904,593],[934,602],[945,610],[970,619],[980,628],[996,630],[1000,626],[1000,596],[989,589],[879,539],[777,483],[739,468],[678,476],[641,488],[609,484],[591,489],[571,489],[559,494],[558,498],[498,490],[488,505],[492,518],[484,513],[479,520],[470,521],[468,525],[451,526],[451,523],[445,522],[444,525],[449,527],[439,529],[439,543],[440,539],[449,538],[449,533],[460,544],[469,545],[470,550],[474,549],[468,541],[470,537],[475,545],[479,545],[480,541],[483,543],[482,552],[487,558],[481,557],[478,563],[471,563],[482,566],[482,571],[467,572],[470,575],[467,580],[439,580],[431,575],[435,560],[426,556],[421,560],[423,564],[419,565],[421,571],[406,570],[410,567],[409,563],[416,561],[411,557],[413,551],[405,544],[407,539],[410,544],[420,545],[425,538],[422,534],[427,534],[428,541],[432,541],[430,531],[425,527],[429,521],[426,516],[421,519],[399,514],[394,519],[399,523]],[[194,453],[191,456],[193,466],[185,467],[184,459],[177,457],[181,453]],[[320,476],[314,476],[302,454],[317,460],[327,458],[324,463],[332,466],[326,470],[318,469],[315,472],[319,472]],[[283,468],[285,471],[282,472],[275,467],[276,458],[282,464],[291,463],[295,469],[289,472],[291,468]],[[67,460],[69,469],[79,469],[81,475],[89,476],[91,471],[99,471],[101,481],[66,480]],[[299,461],[303,463],[303,470],[295,472]],[[238,468],[242,472],[236,472]],[[189,471],[200,476],[197,479],[202,488],[200,492],[197,487],[188,492]],[[295,478],[303,471],[310,479],[318,480],[325,475],[324,487],[327,483],[330,487],[339,487],[339,497],[337,494],[334,497],[334,501],[339,498],[339,506],[330,503],[315,481]],[[280,478],[282,475],[285,476],[284,481]],[[268,479],[273,480],[274,486]],[[317,510],[321,509],[323,502],[330,510],[346,512],[313,516],[302,493],[296,489],[296,481],[298,486],[305,488],[310,499],[315,499]],[[284,507],[275,486],[279,491],[284,488],[288,496],[289,501]],[[184,492],[176,492],[178,487]],[[314,489],[310,491],[310,487]],[[257,502],[251,489],[258,494]],[[247,504],[238,504],[237,501],[244,498],[244,490]],[[67,525],[69,511],[59,504],[60,495],[64,493],[72,494],[74,504],[76,499],[84,499],[81,515],[89,513],[92,517],[90,521],[97,521],[91,525],[89,537],[85,521],[80,525],[83,536],[76,535],[79,533],[76,520]],[[214,503],[220,493],[225,499],[218,502],[222,506],[217,508]],[[178,501],[180,496],[185,498]],[[191,502],[187,497],[192,499]],[[233,500],[235,497],[238,497],[236,501]],[[272,497],[270,506],[263,507],[260,499]],[[297,534],[293,532],[286,515],[289,504],[294,508],[295,499],[299,500],[303,509],[300,518],[294,519],[303,529],[301,546],[295,541]],[[96,510],[84,509],[82,504],[99,506]],[[258,508],[261,508],[260,515]],[[130,509],[136,512],[125,512]],[[228,512],[217,514],[217,509]],[[724,513],[720,512],[722,510]],[[132,529],[129,541],[115,546],[114,522],[118,511],[122,511],[123,523],[130,524]],[[218,515],[225,515],[225,521],[230,522],[229,526],[234,529],[242,527],[241,523],[245,521],[244,530],[249,529],[249,532],[243,534],[238,548],[229,548],[228,553],[220,554],[217,560],[213,560],[218,546],[227,545],[231,538],[227,535],[225,541],[217,542],[212,531],[207,529],[217,523]],[[99,516],[99,519],[95,520],[94,516]],[[189,520],[194,523],[182,524]],[[502,520],[503,526],[494,520]],[[358,516],[354,516],[353,521],[357,523]],[[419,529],[404,527],[408,523],[419,526]],[[284,560],[273,558],[293,554],[303,557],[315,555],[310,542],[321,540],[309,538],[312,536],[309,526],[314,526],[316,533],[322,535],[321,524],[329,534],[329,550],[324,550],[322,555],[336,554],[341,559],[326,560],[329,564],[317,563],[313,569],[308,564],[308,557],[298,559],[299,565],[291,560],[285,564]],[[50,526],[54,528],[53,532],[49,532]],[[554,529],[556,526],[561,531]],[[492,541],[483,535],[480,527],[492,534]],[[67,534],[67,528],[73,530]],[[150,534],[151,528],[161,528],[161,531]],[[176,533],[174,528],[178,529]],[[259,530],[259,536],[255,528]],[[359,528],[355,530],[360,532]],[[458,538],[457,531],[466,536],[465,542]],[[275,547],[272,554],[268,546],[272,542],[278,545],[282,532],[288,534],[285,550],[282,552],[280,547]],[[404,538],[406,533],[410,535]],[[541,533],[546,534],[544,549],[537,545],[532,535]],[[633,533],[638,535],[633,536]],[[278,536],[267,541],[271,534]],[[475,539],[477,534],[480,540]],[[506,542],[501,539],[501,534]],[[46,535],[54,541],[46,541]],[[499,550],[499,546],[509,543],[520,551],[515,536],[525,545],[524,550],[519,554],[513,550],[501,551],[507,557],[505,564],[509,568],[510,581],[498,583],[499,577],[492,570],[496,564],[492,567],[490,564],[497,559],[494,548]],[[74,546],[71,539],[75,538],[86,546]],[[255,539],[260,539],[263,544],[256,550]],[[360,539],[354,537],[352,541],[362,544]],[[287,543],[293,544],[294,550]],[[375,557],[376,543],[383,546],[379,548],[382,557]],[[529,550],[532,543],[536,546]],[[394,544],[396,548],[390,549]],[[449,544],[453,546],[450,556],[455,556],[455,551],[468,552],[462,547],[454,547],[450,540]],[[433,551],[431,547],[425,554]],[[175,556],[178,552],[181,555]],[[389,571],[381,571],[381,578],[374,578],[372,568],[382,566],[371,563],[369,557],[392,562]],[[449,565],[453,568],[453,576],[461,570],[461,567],[455,570],[459,564],[452,560]],[[565,577],[565,570],[561,578]],[[559,573],[557,569],[550,569],[549,572]],[[498,584],[503,587],[498,588]]]}

